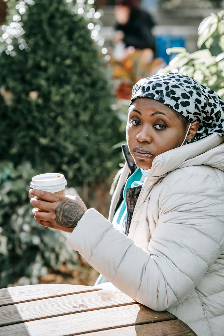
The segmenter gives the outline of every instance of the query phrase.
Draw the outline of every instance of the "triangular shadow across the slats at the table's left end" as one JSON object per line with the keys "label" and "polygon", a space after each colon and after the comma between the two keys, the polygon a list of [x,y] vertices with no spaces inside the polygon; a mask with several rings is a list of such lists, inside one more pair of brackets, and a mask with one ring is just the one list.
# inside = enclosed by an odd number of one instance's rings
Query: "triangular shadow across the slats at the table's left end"
{"label": "triangular shadow across the slats at the table's left end", "polygon": [[[1,305],[0,305],[0,335],[23,335],[29,336],[29,332],[26,326],[23,324],[23,318],[21,317],[19,311],[16,308],[16,305],[13,302],[13,299],[10,295],[10,292],[7,288],[3,288],[1,291]],[[19,303],[18,303],[19,304]],[[13,324],[9,322],[9,317],[13,317],[13,321],[21,321],[20,323]],[[12,319],[10,319],[12,321]],[[19,325],[19,334],[16,334],[16,326]]]}

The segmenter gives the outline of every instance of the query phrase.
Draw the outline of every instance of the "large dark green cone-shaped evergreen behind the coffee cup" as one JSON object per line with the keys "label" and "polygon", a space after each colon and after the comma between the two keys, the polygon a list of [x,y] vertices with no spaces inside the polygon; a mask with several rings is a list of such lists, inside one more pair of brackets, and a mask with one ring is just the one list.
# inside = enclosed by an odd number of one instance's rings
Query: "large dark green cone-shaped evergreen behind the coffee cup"
{"label": "large dark green cone-shaped evergreen behind the coffee cup", "polygon": [[0,39],[0,157],[62,172],[70,185],[118,167],[112,146],[121,139],[114,90],[87,28],[94,9],[79,15],[81,5],[17,1]]}

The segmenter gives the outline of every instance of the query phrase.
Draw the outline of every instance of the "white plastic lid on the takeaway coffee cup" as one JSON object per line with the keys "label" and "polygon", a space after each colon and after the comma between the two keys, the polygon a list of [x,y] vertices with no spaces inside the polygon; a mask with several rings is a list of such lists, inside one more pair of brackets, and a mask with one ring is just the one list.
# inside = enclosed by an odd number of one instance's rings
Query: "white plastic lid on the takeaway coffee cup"
{"label": "white plastic lid on the takeaway coffee cup", "polygon": [[31,188],[56,193],[64,189],[67,181],[63,174],[46,173],[36,175],[30,183]]}

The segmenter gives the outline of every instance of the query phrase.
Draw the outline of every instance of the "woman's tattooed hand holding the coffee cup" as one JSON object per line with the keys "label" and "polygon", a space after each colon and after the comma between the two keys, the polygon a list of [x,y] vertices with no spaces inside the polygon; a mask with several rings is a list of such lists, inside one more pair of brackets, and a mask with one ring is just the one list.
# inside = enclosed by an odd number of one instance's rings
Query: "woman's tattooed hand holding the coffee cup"
{"label": "woman's tattooed hand holding the coffee cup", "polygon": [[36,221],[43,226],[53,229],[72,232],[78,221],[82,218],[87,208],[79,196],[70,199],[41,190],[30,190],[29,194],[36,196],[30,203]]}

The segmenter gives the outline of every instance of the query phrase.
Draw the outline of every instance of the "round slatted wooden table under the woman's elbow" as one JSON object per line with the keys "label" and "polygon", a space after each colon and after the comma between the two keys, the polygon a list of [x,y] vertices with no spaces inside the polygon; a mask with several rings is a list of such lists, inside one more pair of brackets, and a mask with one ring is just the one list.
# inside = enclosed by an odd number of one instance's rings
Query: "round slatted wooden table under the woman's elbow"
{"label": "round slatted wooden table under the woman's elbow", "polygon": [[121,292],[78,285],[0,289],[1,336],[195,336],[171,313]]}

